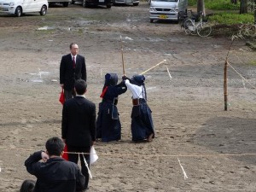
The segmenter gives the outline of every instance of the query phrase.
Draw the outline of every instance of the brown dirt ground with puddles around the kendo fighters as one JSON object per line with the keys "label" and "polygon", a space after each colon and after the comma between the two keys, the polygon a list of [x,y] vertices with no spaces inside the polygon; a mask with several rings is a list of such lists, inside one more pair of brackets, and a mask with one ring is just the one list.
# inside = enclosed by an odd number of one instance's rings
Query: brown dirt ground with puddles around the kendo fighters
{"label": "brown dirt ground with puddles around the kendo fighters", "polygon": [[[122,139],[96,143],[88,191],[232,191],[256,189],[256,54],[230,38],[185,35],[173,22],[149,23],[148,4],[48,14],[0,15],[0,191],[20,189],[24,160],[61,136],[61,55],[79,44],[86,58],[87,97],[100,102],[105,73],[145,73],[155,139],[131,143],[131,93],[119,96]],[[233,69],[233,68],[234,69]],[[169,73],[170,75],[169,75]],[[186,174],[187,177],[184,177]]]}

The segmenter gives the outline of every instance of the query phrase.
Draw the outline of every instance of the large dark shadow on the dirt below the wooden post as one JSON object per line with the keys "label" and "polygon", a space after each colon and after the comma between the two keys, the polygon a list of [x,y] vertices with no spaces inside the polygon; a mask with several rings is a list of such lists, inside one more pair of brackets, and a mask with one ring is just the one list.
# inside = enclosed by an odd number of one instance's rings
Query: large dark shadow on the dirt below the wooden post
{"label": "large dark shadow on the dirt below the wooden post", "polygon": [[[220,154],[256,154],[255,125],[256,119],[214,118],[202,125],[190,141]],[[256,155],[230,157],[256,163]]]}

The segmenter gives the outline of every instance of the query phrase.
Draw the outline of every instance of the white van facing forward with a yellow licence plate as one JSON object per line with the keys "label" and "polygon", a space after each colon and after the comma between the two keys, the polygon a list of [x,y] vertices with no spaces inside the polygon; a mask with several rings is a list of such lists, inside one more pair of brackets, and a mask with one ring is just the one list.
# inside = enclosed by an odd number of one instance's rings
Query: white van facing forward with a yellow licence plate
{"label": "white van facing forward with a yellow licence plate", "polygon": [[188,0],[151,0],[149,19],[154,20],[178,20],[179,11],[187,12]]}

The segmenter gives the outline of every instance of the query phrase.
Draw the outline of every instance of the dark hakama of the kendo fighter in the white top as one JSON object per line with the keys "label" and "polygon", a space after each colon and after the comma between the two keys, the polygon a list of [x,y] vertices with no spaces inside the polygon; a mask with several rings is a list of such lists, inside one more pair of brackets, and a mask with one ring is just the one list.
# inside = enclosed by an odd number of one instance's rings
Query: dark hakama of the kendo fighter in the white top
{"label": "dark hakama of the kendo fighter in the white top", "polygon": [[131,135],[133,142],[146,141],[154,133],[152,111],[144,99],[139,99],[139,105],[133,106],[131,112]]}

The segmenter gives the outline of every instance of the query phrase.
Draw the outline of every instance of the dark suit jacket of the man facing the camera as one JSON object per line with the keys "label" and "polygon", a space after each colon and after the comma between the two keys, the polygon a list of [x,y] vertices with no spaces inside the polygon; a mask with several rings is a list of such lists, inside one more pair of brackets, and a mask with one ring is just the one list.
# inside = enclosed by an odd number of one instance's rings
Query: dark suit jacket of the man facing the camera
{"label": "dark suit jacket of the man facing the camera", "polygon": [[73,58],[71,54],[62,56],[60,66],[60,84],[64,84],[64,90],[73,90],[75,80],[77,79],[84,79],[86,81],[84,56],[77,55],[75,69],[73,69]]}

